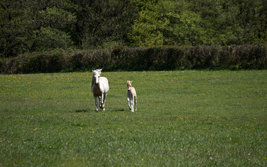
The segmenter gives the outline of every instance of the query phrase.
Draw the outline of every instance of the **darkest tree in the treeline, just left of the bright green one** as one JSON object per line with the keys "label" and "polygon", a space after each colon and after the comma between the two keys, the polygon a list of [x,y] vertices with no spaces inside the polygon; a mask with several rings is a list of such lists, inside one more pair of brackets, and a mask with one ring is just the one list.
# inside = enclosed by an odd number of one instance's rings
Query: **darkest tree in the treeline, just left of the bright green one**
{"label": "darkest tree in the treeline, just left of the bright green one", "polygon": [[82,48],[112,48],[127,43],[126,34],[137,9],[130,0],[77,1],[76,37]]}

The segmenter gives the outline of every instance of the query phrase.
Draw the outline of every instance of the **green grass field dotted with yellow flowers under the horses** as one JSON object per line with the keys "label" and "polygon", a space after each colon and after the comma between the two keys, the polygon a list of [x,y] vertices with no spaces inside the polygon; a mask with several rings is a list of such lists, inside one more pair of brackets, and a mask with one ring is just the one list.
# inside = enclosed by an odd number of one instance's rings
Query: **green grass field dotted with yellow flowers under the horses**
{"label": "green grass field dotted with yellow flowers under the horses", "polygon": [[267,71],[101,76],[95,112],[91,72],[0,75],[0,166],[267,165]]}

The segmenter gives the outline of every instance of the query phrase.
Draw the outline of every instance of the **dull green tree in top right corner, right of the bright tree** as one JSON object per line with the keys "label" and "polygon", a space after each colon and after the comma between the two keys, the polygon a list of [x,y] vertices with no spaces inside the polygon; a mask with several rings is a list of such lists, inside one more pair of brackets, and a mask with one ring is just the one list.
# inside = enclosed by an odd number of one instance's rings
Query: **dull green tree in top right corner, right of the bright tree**
{"label": "dull green tree in top right corner, right of the bright tree", "polygon": [[264,0],[191,0],[201,16],[205,45],[242,45],[266,42],[267,3]]}

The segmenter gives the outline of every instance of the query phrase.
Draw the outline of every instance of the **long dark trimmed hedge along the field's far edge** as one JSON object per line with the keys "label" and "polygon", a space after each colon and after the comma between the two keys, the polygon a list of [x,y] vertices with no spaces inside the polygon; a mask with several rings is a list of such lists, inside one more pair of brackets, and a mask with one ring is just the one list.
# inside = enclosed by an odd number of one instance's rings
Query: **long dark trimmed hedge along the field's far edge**
{"label": "long dark trimmed hedge along the field's far edge", "polygon": [[0,59],[1,74],[177,69],[267,69],[267,44],[55,50]]}

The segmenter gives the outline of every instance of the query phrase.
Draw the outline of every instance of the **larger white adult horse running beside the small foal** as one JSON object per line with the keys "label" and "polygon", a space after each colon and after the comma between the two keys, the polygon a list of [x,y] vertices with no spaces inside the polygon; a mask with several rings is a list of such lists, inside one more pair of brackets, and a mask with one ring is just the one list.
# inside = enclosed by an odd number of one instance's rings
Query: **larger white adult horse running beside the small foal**
{"label": "larger white adult horse running beside the small foal", "polygon": [[105,77],[100,77],[102,69],[93,70],[93,77],[91,83],[91,89],[95,98],[95,111],[98,111],[97,108],[97,98],[99,99],[99,107],[105,111],[105,97],[106,93],[109,91],[109,81]]}

